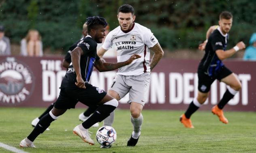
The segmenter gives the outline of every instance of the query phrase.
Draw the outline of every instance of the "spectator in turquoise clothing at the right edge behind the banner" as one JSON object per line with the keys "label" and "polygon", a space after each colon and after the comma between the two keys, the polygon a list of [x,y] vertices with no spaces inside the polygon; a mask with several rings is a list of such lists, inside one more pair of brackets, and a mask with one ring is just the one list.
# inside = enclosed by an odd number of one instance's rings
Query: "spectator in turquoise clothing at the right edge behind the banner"
{"label": "spectator in turquoise clothing at the right edge behind the banner", "polygon": [[249,44],[250,46],[246,48],[243,55],[243,60],[256,61],[256,33],[252,34]]}

